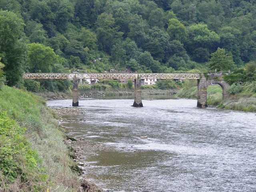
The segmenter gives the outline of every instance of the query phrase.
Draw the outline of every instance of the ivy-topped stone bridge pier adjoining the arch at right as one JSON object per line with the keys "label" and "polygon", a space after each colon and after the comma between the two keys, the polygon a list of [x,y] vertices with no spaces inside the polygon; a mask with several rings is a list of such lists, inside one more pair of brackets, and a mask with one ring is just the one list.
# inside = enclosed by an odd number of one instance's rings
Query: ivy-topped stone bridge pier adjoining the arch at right
{"label": "ivy-topped stone bridge pier adjoining the arch at right", "polygon": [[207,107],[207,80],[204,74],[197,80],[197,107]]}

